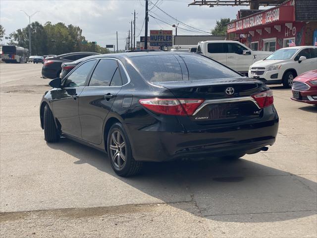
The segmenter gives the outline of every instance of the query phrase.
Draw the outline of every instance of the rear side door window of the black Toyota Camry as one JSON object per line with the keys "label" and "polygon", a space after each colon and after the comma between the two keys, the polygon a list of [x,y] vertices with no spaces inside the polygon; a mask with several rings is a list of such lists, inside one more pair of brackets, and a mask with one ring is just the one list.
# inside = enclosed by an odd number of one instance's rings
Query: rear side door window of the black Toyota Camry
{"label": "rear side door window of the black Toyota Camry", "polygon": [[89,86],[109,86],[116,68],[116,60],[100,60],[91,76]]}

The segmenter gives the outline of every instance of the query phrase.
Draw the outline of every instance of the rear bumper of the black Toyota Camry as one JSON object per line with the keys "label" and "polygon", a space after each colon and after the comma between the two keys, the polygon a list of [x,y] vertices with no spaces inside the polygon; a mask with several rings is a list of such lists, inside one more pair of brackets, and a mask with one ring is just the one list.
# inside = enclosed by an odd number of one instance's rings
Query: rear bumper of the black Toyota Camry
{"label": "rear bumper of the black Toyota Camry", "polygon": [[[179,158],[220,157],[250,152],[273,145],[278,116],[265,108],[270,115],[254,121],[217,124],[205,130],[154,131],[155,125],[130,126],[129,136],[133,156],[138,161],[169,161]],[[158,125],[157,128],[161,128]]]}

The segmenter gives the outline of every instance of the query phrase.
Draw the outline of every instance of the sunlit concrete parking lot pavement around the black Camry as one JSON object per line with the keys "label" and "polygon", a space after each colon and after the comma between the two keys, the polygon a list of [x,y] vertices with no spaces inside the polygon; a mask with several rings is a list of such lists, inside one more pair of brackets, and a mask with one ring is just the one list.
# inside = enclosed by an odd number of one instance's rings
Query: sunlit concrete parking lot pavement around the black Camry
{"label": "sunlit concrete parking lot pavement around the black Camry", "polygon": [[267,152],[234,162],[149,163],[114,174],[107,155],[47,144],[42,64],[0,64],[2,237],[317,237],[317,108],[273,86],[280,117]]}

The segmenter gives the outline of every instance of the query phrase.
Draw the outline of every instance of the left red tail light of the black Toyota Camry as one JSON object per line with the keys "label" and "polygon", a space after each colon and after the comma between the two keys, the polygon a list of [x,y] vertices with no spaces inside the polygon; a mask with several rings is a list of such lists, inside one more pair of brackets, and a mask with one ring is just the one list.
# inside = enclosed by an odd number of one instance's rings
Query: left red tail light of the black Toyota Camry
{"label": "left red tail light of the black Toyota Camry", "polygon": [[152,112],[174,116],[192,116],[203,99],[141,99],[139,103]]}

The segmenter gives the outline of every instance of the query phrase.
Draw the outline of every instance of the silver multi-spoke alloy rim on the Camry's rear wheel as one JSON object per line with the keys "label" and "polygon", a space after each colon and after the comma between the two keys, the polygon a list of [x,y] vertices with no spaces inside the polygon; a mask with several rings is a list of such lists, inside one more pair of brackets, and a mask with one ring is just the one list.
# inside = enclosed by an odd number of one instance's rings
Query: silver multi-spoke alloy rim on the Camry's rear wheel
{"label": "silver multi-spoke alloy rim on the Camry's rear wheel", "polygon": [[119,130],[112,131],[109,149],[113,165],[121,169],[125,164],[126,151],[125,141]]}

